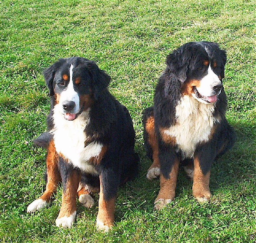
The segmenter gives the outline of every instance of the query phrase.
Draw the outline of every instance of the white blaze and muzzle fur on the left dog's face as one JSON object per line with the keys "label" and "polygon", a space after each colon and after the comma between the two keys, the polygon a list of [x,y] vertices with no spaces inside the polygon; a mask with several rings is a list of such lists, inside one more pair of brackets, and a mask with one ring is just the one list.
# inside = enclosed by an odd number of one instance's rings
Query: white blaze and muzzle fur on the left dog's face
{"label": "white blaze and muzzle fur on the left dog's face", "polygon": [[59,104],[62,105],[62,102],[68,100],[68,101],[74,101],[75,102],[75,108],[73,113],[78,113],[79,111],[79,95],[74,89],[74,83],[73,83],[73,65],[70,65],[69,68],[69,83],[63,92],[60,94],[60,102]]}

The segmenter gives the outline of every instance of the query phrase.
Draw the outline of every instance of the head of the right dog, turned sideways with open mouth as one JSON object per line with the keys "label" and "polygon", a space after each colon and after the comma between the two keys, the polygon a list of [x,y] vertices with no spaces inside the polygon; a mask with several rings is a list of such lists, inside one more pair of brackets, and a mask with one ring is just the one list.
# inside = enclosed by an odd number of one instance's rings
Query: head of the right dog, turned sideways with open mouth
{"label": "head of the right dog, turned sideways with open mouth", "polygon": [[189,42],[166,59],[167,71],[181,83],[183,94],[213,103],[222,90],[226,52],[212,42]]}

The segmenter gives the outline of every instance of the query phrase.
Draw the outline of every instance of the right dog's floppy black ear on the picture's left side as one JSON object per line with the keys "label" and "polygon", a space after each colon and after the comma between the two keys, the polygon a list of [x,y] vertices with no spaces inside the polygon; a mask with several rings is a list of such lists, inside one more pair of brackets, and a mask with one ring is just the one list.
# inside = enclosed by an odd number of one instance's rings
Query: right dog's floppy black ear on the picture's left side
{"label": "right dog's floppy black ear on the picture's left side", "polygon": [[166,58],[167,67],[181,83],[184,83],[187,79],[187,71],[191,58],[188,53],[183,47],[180,47]]}

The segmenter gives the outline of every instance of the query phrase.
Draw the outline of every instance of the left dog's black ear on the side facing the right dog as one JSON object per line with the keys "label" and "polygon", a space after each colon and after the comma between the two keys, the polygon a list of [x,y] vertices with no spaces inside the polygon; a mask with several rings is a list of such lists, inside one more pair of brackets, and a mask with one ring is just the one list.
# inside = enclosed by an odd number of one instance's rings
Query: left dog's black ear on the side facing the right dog
{"label": "left dog's black ear on the side facing the right dog", "polygon": [[108,87],[110,76],[104,70],[101,70],[94,61],[91,62],[90,72],[93,78],[93,96],[95,99],[98,99],[102,90]]}

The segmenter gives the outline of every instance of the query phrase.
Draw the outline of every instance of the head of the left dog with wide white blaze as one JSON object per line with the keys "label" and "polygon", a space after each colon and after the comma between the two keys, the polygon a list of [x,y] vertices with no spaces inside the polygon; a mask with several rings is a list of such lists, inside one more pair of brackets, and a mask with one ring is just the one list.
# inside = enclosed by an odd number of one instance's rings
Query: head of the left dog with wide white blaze
{"label": "head of the left dog with wide white blaze", "polygon": [[44,79],[66,120],[89,108],[110,82],[94,61],[82,57],[59,59],[44,70]]}

